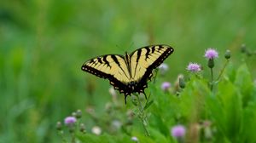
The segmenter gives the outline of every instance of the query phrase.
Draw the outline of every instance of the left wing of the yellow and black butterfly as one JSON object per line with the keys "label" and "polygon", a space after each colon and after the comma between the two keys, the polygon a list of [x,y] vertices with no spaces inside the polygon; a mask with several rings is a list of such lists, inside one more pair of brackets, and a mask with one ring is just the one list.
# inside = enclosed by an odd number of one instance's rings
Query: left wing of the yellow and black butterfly
{"label": "left wing of the yellow and black butterfly", "polygon": [[119,54],[98,56],[86,61],[81,69],[97,77],[107,78],[114,89],[119,89],[120,93],[125,93],[126,83],[129,83],[131,77],[124,56]]}

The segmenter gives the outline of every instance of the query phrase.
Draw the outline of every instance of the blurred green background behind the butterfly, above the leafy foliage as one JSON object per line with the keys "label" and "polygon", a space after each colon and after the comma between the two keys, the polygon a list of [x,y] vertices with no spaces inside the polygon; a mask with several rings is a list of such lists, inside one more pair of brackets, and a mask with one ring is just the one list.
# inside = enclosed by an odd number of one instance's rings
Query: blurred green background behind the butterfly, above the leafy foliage
{"label": "blurred green background behind the butterfly, above the leafy foliage", "polygon": [[101,114],[111,98],[108,81],[80,70],[97,55],[169,44],[175,52],[166,60],[166,80],[173,82],[190,61],[206,66],[209,47],[220,56],[226,49],[238,55],[242,43],[255,49],[255,5],[253,0],[0,1],[0,141],[58,142],[57,121],[87,106]]}

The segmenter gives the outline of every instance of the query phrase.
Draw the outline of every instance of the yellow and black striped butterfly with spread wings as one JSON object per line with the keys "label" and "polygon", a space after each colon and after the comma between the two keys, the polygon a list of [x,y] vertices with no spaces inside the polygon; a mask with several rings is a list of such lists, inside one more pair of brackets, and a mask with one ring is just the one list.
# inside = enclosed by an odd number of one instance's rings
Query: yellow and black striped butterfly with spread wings
{"label": "yellow and black striped butterfly with spread wings", "polygon": [[106,54],[88,60],[81,67],[97,77],[108,78],[114,89],[127,95],[144,93],[152,71],[160,66],[174,49],[168,45],[152,45],[135,50],[131,54]]}

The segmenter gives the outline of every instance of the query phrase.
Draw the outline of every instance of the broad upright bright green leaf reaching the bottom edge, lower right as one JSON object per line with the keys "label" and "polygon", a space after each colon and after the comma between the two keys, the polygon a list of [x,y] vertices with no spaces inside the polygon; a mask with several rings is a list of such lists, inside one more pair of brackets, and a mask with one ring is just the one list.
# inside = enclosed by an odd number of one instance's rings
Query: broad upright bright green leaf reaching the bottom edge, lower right
{"label": "broad upright bright green leaf reaching the bottom edge, lower right", "polygon": [[236,142],[241,131],[242,103],[241,94],[230,81],[222,81],[218,84],[218,110],[221,114],[215,116],[219,129],[232,142]]}

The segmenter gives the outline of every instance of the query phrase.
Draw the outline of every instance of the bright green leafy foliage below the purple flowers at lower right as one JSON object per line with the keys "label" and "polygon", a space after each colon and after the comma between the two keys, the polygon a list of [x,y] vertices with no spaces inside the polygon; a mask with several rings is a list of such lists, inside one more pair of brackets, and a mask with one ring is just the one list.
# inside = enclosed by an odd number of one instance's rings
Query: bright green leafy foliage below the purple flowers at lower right
{"label": "bright green leafy foliage below the purple flowers at lower right", "polygon": [[[230,67],[230,70],[231,68],[235,67]],[[132,142],[131,136],[136,136],[139,142],[176,142],[170,130],[176,124],[183,124],[187,129],[184,140],[191,142],[255,142],[253,130],[256,128],[256,86],[253,85],[246,64],[242,64],[235,75],[235,80],[230,81],[233,75],[225,74],[215,84],[213,91],[206,78],[196,74],[189,77],[186,88],[178,94],[161,90],[157,86],[159,80],[151,83],[148,92],[153,102],[143,111],[148,115],[146,128],[149,136],[142,130],[143,123],[137,123],[137,117],[129,124],[122,123],[121,129],[112,126],[112,119],[108,118],[109,121],[106,121],[102,120],[103,117],[98,117],[101,120],[99,124],[105,127],[104,134],[78,134],[77,137],[83,142]],[[243,80],[240,75],[243,75]],[[135,96],[133,100],[142,99]],[[144,100],[144,103],[147,101]],[[141,107],[138,106],[137,111],[137,106],[135,104],[128,108],[139,112]],[[111,112],[122,114],[121,111],[126,107],[121,108],[112,108]],[[113,115],[113,118],[117,117],[118,114]],[[124,118],[119,122],[122,120]],[[119,131],[111,131],[114,128]]]}

